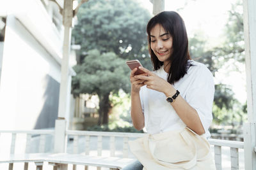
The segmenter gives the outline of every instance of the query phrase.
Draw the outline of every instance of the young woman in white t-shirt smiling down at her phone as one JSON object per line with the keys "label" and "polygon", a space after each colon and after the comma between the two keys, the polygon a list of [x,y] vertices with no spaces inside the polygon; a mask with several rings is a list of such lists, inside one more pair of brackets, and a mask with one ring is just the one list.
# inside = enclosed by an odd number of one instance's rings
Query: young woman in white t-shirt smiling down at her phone
{"label": "young woman in white t-shirt smiling down at her phone", "polygon": [[[215,169],[205,140],[210,137],[208,129],[212,122],[214,81],[211,72],[204,64],[191,60],[186,27],[175,11],[163,11],[151,18],[147,34],[154,71],[135,68],[130,80],[132,122],[138,130],[145,127],[148,136],[146,140],[130,143],[131,151],[140,162],[124,170],[141,170],[143,166],[159,170],[166,167]],[[145,74],[134,75],[137,69]],[[182,139],[178,139],[180,136]],[[186,142],[182,144],[182,141]],[[137,147],[139,145],[141,147]],[[186,155],[186,150],[180,151],[184,147],[191,150],[191,155]],[[164,153],[168,150],[172,154]],[[204,153],[200,153],[202,150]]]}

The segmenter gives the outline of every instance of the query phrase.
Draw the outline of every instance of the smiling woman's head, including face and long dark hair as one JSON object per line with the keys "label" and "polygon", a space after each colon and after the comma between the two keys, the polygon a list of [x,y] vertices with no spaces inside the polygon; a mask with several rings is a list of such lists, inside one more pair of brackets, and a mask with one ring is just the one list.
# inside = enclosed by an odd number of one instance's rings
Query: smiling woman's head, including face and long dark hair
{"label": "smiling woman's head, including face and long dark hair", "polygon": [[188,60],[191,58],[188,52],[186,27],[179,14],[174,11],[164,11],[162,15],[156,15],[154,20],[148,22],[147,34],[154,70],[164,65],[164,71],[170,73],[169,83],[174,83],[183,77],[188,67]]}

